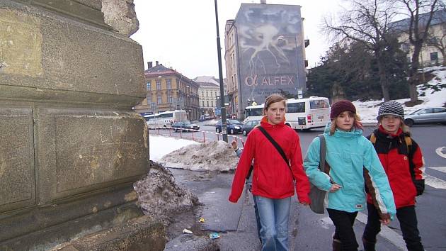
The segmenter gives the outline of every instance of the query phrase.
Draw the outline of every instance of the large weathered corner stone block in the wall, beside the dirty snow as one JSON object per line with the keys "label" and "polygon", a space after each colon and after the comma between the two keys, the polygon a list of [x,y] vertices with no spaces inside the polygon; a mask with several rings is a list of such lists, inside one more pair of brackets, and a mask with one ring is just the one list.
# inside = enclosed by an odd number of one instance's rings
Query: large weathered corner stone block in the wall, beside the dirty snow
{"label": "large weathered corner stone block in the wall, beside the dirty snow", "polygon": [[35,114],[39,204],[147,174],[147,129],[137,113],[40,108]]}

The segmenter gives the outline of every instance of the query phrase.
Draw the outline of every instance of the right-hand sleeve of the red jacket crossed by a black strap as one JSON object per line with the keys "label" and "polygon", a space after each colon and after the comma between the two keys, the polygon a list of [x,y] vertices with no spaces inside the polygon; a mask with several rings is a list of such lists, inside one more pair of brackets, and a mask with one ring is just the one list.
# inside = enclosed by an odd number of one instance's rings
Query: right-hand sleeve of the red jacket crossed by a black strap
{"label": "right-hand sleeve of the red jacket crossed by a black strap", "polygon": [[[294,132],[293,132],[294,133]],[[309,191],[310,185],[307,174],[305,174],[304,167],[302,165],[302,150],[300,149],[299,135],[296,135],[296,140],[293,140],[293,149],[291,155],[291,170],[292,175],[296,180],[296,193],[297,198],[301,203],[310,203]]]}

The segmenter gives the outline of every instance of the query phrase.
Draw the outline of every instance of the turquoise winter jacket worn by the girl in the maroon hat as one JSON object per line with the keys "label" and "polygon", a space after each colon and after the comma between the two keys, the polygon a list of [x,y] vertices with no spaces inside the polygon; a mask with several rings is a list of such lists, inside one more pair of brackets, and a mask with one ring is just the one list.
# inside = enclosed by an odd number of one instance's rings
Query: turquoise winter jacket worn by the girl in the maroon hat
{"label": "turquoise winter jacket worn by the girl in the maroon hat", "polygon": [[[396,213],[394,196],[391,192],[387,175],[384,172],[372,143],[362,136],[362,130],[345,132],[336,130],[330,135],[331,123],[325,128],[326,162],[330,165],[330,176],[341,189],[328,192],[325,198],[326,208],[346,212],[362,211],[365,208],[365,178],[367,186],[374,191],[377,209],[382,215],[394,218]],[[330,178],[319,171],[319,138],[314,138],[304,160],[304,169],[314,186],[328,191]],[[368,171],[364,171],[363,167]],[[387,218],[384,217],[384,218]]]}

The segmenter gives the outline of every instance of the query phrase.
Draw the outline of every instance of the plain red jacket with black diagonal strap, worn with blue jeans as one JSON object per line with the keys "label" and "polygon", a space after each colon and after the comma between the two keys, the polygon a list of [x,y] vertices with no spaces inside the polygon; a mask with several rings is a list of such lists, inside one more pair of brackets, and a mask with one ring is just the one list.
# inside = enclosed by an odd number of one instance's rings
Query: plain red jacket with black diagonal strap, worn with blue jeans
{"label": "plain red jacket with black diagonal strap, worn with blue jeans", "polygon": [[282,147],[285,155],[291,160],[291,169],[285,160],[263,135],[261,130],[255,128],[248,135],[244,150],[232,181],[229,201],[237,202],[243,191],[246,175],[251,160],[254,159],[253,184],[251,191],[254,195],[270,199],[283,199],[295,194],[293,177],[296,180],[296,191],[299,201],[310,203],[310,184],[302,166],[302,151],[300,149],[299,135],[292,128],[280,123],[271,125],[263,117],[261,126]]}

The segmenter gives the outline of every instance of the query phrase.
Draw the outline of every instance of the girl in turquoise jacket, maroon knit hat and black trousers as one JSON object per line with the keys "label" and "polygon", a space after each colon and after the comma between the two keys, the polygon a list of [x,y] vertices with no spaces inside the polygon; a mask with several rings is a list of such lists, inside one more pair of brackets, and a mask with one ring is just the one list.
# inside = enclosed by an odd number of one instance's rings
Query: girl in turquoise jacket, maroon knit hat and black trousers
{"label": "girl in turquoise jacket, maroon knit hat and black trousers", "polygon": [[[362,125],[350,101],[331,106],[331,123],[324,132],[326,172],[320,172],[320,141],[314,138],[304,160],[304,169],[314,186],[328,191],[324,205],[336,227],[333,250],[358,250],[353,223],[365,208],[365,185],[374,194],[374,205],[383,224],[396,213],[387,175],[372,143],[362,136]],[[328,171],[327,171],[328,170]]]}

